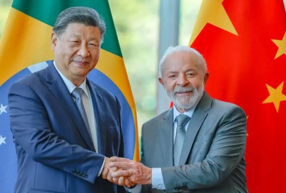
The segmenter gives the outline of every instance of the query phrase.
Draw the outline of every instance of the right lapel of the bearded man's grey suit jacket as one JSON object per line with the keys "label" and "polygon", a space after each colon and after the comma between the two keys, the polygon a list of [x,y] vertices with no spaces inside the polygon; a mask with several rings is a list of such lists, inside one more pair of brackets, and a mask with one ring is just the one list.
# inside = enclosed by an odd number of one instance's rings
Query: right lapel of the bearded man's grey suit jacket
{"label": "right lapel of the bearded man's grey suit jacket", "polygon": [[184,138],[184,144],[182,147],[179,165],[186,164],[188,156],[191,152],[191,148],[193,146],[193,142],[196,139],[196,136],[202,126],[202,123],[204,122],[204,119],[207,117],[207,110],[211,108],[211,101],[212,99],[209,94],[207,94],[207,92],[204,92],[204,95],[198,103],[196,110],[193,112],[193,116],[191,116],[187,133]]}

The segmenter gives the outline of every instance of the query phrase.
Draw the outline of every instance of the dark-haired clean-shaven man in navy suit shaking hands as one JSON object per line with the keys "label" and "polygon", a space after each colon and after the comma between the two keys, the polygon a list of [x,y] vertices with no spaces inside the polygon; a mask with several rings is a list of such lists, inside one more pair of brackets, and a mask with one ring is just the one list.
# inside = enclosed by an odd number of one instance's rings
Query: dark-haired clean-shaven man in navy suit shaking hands
{"label": "dark-haired clean-shaven man in navy suit shaking hands", "polygon": [[64,10],[51,37],[55,60],[11,86],[15,192],[124,191],[101,176],[109,157],[124,156],[120,103],[86,79],[97,65],[105,31],[95,10]]}

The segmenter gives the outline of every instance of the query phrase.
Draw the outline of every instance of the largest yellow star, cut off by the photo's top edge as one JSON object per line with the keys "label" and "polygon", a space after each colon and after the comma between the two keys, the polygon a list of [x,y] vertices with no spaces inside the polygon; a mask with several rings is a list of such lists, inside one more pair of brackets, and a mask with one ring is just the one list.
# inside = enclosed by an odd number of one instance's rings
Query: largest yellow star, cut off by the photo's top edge
{"label": "largest yellow star, cut off by the photo's top edge", "polygon": [[[227,15],[227,12],[225,11],[225,8],[222,6],[222,1],[223,0],[202,0],[198,19],[195,27],[193,28],[189,45],[191,45],[196,37],[198,37],[198,34],[200,34],[207,23],[211,23],[213,26],[238,35],[229,19],[229,16]],[[213,17],[214,15],[216,17]]]}

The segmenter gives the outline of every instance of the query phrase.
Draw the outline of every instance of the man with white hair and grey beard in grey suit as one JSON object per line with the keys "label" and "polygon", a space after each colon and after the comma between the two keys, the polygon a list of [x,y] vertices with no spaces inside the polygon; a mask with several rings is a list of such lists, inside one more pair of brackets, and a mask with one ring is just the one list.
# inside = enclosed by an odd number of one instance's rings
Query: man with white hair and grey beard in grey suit
{"label": "man with white hair and grey beard in grey suit", "polygon": [[202,55],[187,46],[166,50],[159,81],[174,107],[142,126],[141,163],[111,157],[104,178],[128,192],[247,192],[245,112],[212,99]]}

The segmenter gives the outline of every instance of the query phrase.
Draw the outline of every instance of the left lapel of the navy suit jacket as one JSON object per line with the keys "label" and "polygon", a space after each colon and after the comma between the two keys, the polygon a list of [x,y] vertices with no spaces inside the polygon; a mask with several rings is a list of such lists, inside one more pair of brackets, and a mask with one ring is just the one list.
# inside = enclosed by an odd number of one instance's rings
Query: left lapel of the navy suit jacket
{"label": "left lapel of the navy suit jacket", "polygon": [[59,76],[59,73],[55,69],[53,65],[53,61],[48,63],[47,67],[47,74],[46,74],[46,81],[50,83],[50,92],[53,93],[55,98],[59,101],[59,103],[66,109],[67,114],[70,116],[70,119],[74,121],[75,125],[77,126],[77,130],[81,134],[84,141],[86,141],[86,145],[90,150],[95,151],[93,146],[93,142],[90,139],[88,134],[88,130],[84,124],[84,120],[82,116],[80,116],[79,110],[73,101],[73,97],[71,96],[70,92],[68,92],[68,88],[64,84],[64,81]]}

